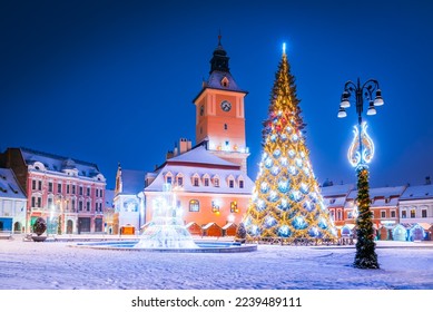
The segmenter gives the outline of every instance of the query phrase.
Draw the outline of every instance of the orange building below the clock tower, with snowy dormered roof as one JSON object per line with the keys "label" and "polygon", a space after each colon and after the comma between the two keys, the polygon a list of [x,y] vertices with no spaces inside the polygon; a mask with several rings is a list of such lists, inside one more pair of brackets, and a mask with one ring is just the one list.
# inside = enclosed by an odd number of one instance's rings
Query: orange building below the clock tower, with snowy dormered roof
{"label": "orange building below the clock tower, with snowy dormered roof", "polygon": [[240,165],[215,156],[204,145],[167,159],[146,176],[146,185],[145,223],[151,220],[168,185],[189,232],[208,236],[233,234],[254,187]]}

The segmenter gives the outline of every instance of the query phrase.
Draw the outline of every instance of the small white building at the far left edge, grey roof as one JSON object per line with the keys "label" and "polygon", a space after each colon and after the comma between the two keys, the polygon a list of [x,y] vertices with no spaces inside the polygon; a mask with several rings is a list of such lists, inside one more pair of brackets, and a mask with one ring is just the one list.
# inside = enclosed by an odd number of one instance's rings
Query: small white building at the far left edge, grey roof
{"label": "small white building at the far left edge, grey roof", "polygon": [[27,197],[11,169],[0,168],[0,234],[26,228]]}

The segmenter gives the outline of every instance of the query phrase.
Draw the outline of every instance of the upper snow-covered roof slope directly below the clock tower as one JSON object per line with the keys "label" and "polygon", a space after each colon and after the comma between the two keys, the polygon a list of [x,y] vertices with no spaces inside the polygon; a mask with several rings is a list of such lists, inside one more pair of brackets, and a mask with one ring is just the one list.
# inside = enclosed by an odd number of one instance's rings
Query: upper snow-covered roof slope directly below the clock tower
{"label": "upper snow-covered roof slope directly below the clock tower", "polygon": [[205,146],[200,145],[196,148],[193,148],[184,154],[180,154],[179,156],[173,157],[166,162],[167,164],[175,164],[175,163],[191,163],[191,164],[205,164],[209,166],[230,166],[234,169],[239,168],[239,165],[236,165],[234,163],[227,162],[225,159],[219,158],[218,156],[215,156],[214,154],[209,153]]}

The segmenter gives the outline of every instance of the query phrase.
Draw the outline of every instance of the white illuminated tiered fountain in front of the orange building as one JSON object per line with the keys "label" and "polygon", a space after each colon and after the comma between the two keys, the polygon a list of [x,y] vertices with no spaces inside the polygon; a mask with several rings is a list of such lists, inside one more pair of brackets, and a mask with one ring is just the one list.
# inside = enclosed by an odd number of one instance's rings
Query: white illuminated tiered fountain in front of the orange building
{"label": "white illuminated tiered fountain in front of the orange building", "polygon": [[163,195],[154,202],[152,220],[141,234],[135,248],[198,248],[181,218],[175,192],[164,185]]}

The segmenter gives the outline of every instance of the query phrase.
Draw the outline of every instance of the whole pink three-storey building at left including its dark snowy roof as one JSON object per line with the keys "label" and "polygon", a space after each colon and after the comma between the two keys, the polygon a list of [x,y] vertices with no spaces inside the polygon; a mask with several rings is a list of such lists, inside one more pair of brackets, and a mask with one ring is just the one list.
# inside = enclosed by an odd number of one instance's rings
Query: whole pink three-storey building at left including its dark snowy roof
{"label": "whole pink three-storey building at left including its dark snowy roof", "polygon": [[1,156],[28,202],[24,231],[38,217],[48,234],[104,232],[106,179],[96,164],[29,148],[8,148]]}

